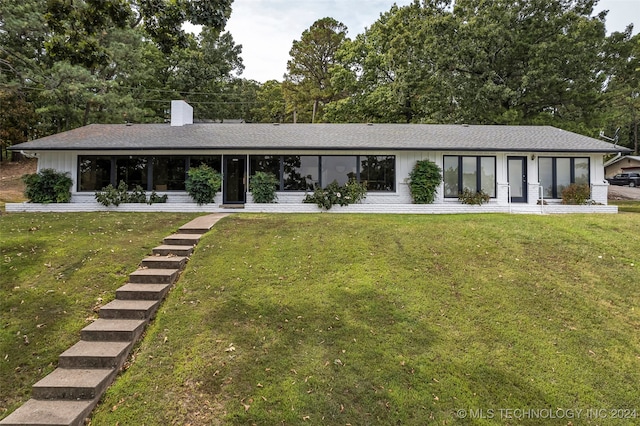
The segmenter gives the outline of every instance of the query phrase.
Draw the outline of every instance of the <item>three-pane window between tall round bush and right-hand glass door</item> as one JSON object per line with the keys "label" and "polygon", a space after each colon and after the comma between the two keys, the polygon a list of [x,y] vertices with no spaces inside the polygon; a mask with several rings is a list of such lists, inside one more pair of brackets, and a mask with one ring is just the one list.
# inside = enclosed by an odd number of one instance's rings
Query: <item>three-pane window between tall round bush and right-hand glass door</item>
{"label": "three-pane window between tall round bush and right-hand glass door", "polygon": [[444,196],[458,198],[464,189],[496,196],[496,158],[444,156]]}

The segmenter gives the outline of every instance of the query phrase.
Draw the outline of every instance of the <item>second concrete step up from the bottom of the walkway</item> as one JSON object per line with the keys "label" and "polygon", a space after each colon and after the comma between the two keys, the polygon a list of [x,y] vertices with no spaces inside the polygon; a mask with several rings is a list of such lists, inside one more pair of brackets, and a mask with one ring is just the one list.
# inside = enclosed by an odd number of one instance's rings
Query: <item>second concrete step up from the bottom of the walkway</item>
{"label": "second concrete step up from the bottom of the walkway", "polygon": [[33,385],[34,399],[94,399],[102,396],[116,375],[115,369],[56,368]]}

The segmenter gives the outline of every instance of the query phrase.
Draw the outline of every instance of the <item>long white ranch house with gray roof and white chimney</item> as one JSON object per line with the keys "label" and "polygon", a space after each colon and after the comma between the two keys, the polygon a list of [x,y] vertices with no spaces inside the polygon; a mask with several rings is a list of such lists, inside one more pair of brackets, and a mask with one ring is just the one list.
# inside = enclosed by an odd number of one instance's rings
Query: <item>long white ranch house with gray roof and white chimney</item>
{"label": "long white ranch house with gray roof and white chimney", "polygon": [[[440,124],[193,123],[193,109],[172,102],[171,124],[91,124],[12,147],[38,158],[38,169],[69,172],[71,203],[7,204],[7,211],[313,212],[305,194],[349,178],[367,183],[362,204],[336,212],[617,212],[607,205],[604,156],[629,150],[550,126]],[[443,174],[435,202],[412,204],[407,184],[418,160]],[[207,164],[223,175],[216,202],[198,206],[185,191],[187,171]],[[279,180],[277,204],[257,204],[248,191],[257,171]],[[165,204],[104,207],[95,193],[120,181],[167,194]],[[584,206],[561,205],[572,183],[588,184]],[[464,188],[490,201],[462,205]]]}

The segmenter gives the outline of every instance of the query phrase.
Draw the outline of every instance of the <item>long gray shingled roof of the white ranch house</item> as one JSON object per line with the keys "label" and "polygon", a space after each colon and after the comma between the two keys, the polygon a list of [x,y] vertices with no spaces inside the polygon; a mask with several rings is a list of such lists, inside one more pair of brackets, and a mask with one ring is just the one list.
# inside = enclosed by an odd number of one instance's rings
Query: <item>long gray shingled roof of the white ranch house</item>
{"label": "long gray shingled roof of the white ranch house", "polygon": [[447,124],[91,124],[11,149],[629,152],[550,126]]}

